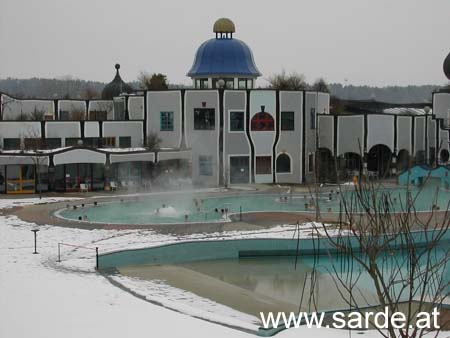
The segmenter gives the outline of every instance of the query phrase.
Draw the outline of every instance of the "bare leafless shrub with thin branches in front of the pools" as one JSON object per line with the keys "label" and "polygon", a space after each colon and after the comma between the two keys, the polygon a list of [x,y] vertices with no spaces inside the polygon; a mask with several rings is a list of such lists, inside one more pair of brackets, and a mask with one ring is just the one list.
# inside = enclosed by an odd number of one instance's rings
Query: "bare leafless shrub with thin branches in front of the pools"
{"label": "bare leafless shrub with thin branches in front of the pools", "polygon": [[[361,176],[353,189],[345,190],[339,185],[337,191],[340,212],[333,231],[321,218],[319,195],[314,191],[314,206],[319,214],[314,232],[327,240],[326,271],[340,298],[351,311],[382,312],[387,308],[389,320],[392,314],[403,313],[404,328],[389,325],[380,329],[373,317],[369,319],[383,337],[436,337],[448,324],[445,316],[431,328],[416,324],[419,313],[441,308],[449,299],[450,204],[440,210],[436,189],[429,198],[430,211],[420,213],[416,202],[423,189],[407,186],[401,192],[386,190]],[[309,295],[309,302],[315,306],[314,276],[318,271],[315,264],[311,273],[313,291]],[[363,280],[370,281],[372,295],[367,293]]]}

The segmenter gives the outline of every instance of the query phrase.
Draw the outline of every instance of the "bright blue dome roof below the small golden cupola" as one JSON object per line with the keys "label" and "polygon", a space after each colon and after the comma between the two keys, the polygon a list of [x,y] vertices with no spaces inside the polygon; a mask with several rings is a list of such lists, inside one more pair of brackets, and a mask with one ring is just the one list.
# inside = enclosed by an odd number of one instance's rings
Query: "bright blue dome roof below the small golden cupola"
{"label": "bright blue dome roof below the small golden cupola", "polygon": [[190,77],[217,75],[260,76],[253,54],[244,42],[234,38],[215,38],[198,48]]}

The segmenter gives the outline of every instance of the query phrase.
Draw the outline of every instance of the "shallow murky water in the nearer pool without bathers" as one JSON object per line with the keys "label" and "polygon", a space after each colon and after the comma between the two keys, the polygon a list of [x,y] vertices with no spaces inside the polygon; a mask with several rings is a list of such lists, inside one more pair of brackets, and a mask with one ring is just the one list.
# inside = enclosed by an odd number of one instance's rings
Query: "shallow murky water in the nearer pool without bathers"
{"label": "shallow murky water in the nearer pool without bathers", "polygon": [[[439,260],[445,255],[448,257],[448,248],[437,248],[432,257]],[[401,276],[408,275],[408,253],[387,253],[379,260],[385,279],[390,276],[395,279],[391,291],[396,292],[399,301],[406,300],[409,289],[402,289]],[[426,267],[426,259],[420,263]],[[120,267],[119,272],[143,280],[163,281],[256,317],[261,311],[348,309],[345,299],[349,299],[349,293],[337,276],[343,283],[355,285],[353,304],[360,307],[378,305],[372,280],[348,256],[301,256],[297,263],[295,257],[207,260],[174,265],[125,266]],[[438,272],[439,275],[441,273],[445,283],[450,281],[446,264]]]}

